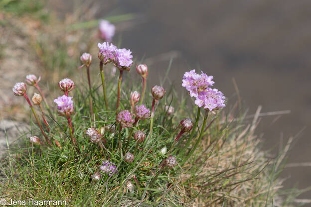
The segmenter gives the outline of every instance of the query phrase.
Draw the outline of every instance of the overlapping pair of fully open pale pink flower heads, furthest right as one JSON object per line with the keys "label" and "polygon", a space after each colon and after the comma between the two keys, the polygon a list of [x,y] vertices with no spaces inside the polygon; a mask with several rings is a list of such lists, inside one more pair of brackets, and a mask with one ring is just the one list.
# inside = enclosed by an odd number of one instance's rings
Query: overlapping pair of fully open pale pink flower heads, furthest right
{"label": "overlapping pair of fully open pale pink flower heads, furthest right", "polygon": [[195,70],[186,72],[182,79],[182,86],[186,88],[191,97],[196,98],[194,103],[210,111],[226,106],[224,104],[226,97],[223,93],[209,88],[215,83],[212,80],[213,76],[207,76],[203,71],[197,74]]}

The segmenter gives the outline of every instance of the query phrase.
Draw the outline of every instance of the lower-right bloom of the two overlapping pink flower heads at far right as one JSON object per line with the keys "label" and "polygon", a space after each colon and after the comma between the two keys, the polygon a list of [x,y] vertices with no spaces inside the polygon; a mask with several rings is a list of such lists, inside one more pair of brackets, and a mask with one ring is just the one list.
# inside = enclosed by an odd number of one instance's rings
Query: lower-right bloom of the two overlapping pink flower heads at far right
{"label": "lower-right bloom of the two overlapping pink flower heads at far right", "polygon": [[217,89],[208,88],[196,98],[194,103],[199,107],[204,106],[205,109],[213,111],[225,107],[225,99],[226,97],[223,96],[223,93]]}

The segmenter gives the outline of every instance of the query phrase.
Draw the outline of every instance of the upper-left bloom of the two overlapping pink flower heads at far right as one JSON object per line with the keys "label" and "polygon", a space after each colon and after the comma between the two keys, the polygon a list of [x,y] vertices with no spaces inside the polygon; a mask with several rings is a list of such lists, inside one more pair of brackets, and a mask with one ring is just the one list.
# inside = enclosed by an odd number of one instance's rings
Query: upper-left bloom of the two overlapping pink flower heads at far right
{"label": "upper-left bloom of the two overlapping pink flower heads at far right", "polygon": [[181,86],[186,88],[191,97],[197,97],[214,84],[212,79],[213,76],[207,76],[203,71],[199,75],[191,70],[183,75]]}

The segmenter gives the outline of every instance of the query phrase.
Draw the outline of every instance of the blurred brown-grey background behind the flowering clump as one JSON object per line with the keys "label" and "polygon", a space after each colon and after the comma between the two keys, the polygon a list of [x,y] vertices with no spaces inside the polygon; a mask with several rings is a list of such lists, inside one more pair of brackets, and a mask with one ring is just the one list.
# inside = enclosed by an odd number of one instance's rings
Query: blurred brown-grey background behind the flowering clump
{"label": "blurred brown-grey background behind the flowering clump", "polygon": [[148,64],[150,86],[171,63],[168,76],[177,91],[185,71],[203,70],[214,76],[228,105],[241,101],[248,114],[259,105],[263,113],[283,111],[262,114],[258,137],[271,158],[294,137],[281,176],[288,189],[311,186],[310,0],[0,2],[1,119],[25,120],[16,117],[20,100],[10,91],[25,75],[41,74],[46,86],[55,87],[60,77],[77,72],[82,52],[97,61],[98,19],[108,19],[116,25],[113,43]]}

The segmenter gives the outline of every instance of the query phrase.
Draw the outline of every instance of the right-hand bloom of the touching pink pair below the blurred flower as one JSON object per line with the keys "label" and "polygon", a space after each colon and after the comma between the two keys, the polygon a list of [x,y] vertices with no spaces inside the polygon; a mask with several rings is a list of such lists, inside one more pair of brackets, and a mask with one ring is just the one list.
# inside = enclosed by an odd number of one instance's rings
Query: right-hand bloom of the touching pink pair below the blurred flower
{"label": "right-hand bloom of the touching pink pair below the blurred flower", "polygon": [[131,50],[127,50],[125,48],[116,49],[114,63],[119,70],[130,70],[130,67],[133,64],[133,56],[131,53]]}

